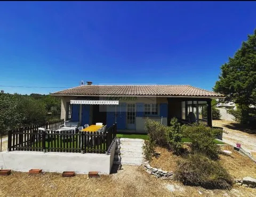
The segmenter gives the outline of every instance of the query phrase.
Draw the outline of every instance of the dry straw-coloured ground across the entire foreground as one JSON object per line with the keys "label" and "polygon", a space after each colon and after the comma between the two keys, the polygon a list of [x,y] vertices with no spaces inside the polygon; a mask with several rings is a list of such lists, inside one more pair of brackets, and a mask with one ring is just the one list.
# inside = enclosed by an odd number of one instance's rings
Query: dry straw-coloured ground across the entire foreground
{"label": "dry straw-coloured ground across the entire foreground", "polygon": [[256,196],[255,189],[242,186],[230,191],[183,186],[149,175],[141,166],[122,166],[117,173],[100,178],[13,171],[10,176],[0,177],[0,185],[0,196]]}

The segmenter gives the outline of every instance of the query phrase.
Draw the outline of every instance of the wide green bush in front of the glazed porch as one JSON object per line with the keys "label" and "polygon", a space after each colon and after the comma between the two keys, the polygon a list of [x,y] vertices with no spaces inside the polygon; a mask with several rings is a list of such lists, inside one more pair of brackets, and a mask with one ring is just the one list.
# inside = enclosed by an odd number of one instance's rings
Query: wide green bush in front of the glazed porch
{"label": "wide green bush in front of the glazed porch", "polygon": [[191,140],[192,153],[202,153],[211,159],[217,159],[220,147],[214,143],[221,130],[207,127],[204,124],[182,126],[183,134]]}

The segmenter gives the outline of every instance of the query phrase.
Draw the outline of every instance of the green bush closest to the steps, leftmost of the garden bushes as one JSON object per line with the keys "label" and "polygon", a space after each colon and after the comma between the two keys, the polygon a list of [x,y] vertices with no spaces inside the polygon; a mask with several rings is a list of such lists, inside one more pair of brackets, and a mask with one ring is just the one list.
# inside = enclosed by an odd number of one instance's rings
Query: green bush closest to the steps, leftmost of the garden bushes
{"label": "green bush closest to the steps, leftmost of the garden bushes", "polygon": [[145,121],[145,130],[148,133],[149,140],[155,142],[159,146],[167,146],[169,141],[168,129],[160,122],[151,120],[149,118]]}

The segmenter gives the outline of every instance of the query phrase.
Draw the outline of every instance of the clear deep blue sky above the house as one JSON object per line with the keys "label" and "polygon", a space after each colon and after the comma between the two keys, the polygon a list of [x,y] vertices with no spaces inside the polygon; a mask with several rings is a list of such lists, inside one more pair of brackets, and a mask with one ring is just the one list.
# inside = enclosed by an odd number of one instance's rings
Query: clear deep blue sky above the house
{"label": "clear deep blue sky above the house", "polygon": [[253,34],[255,10],[256,2],[0,2],[0,85],[212,90],[220,66]]}

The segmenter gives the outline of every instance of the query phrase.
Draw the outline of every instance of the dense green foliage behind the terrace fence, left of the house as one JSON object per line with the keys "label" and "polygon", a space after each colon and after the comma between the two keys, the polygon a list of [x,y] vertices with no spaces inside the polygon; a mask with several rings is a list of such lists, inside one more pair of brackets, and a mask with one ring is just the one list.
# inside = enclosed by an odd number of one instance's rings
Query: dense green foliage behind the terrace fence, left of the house
{"label": "dense green foliage behind the terrace fence, left of the house", "polygon": [[51,95],[0,93],[0,132],[15,127],[39,124],[47,121],[47,112],[54,117],[60,115],[61,102]]}

